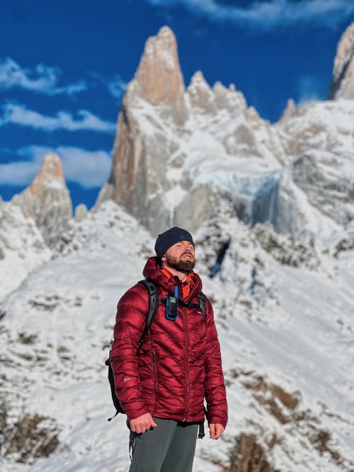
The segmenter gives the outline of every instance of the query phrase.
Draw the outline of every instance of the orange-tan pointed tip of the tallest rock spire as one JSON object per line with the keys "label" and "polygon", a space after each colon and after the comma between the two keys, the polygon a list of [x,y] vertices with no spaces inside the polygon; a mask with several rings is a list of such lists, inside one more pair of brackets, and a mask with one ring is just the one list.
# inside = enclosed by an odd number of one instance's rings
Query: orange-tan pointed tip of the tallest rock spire
{"label": "orange-tan pointed tip of the tallest rock spire", "polygon": [[184,81],[178,60],[176,37],[164,26],[146,42],[129,95],[137,95],[153,105],[164,103],[174,109],[177,122],[185,119]]}

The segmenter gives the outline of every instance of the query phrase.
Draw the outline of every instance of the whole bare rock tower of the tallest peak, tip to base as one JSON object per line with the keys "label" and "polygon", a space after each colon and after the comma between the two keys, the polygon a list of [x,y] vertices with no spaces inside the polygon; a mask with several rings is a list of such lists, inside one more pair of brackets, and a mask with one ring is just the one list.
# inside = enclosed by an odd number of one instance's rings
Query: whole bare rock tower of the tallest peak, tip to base
{"label": "whole bare rock tower of the tallest peak, tip to base", "polygon": [[[149,110],[142,119],[138,109],[147,102],[159,105],[159,122]],[[164,193],[169,190],[167,161],[176,145],[164,121],[172,118],[172,126],[181,125],[186,113],[176,38],[164,27],[147,41],[135,78],[127,87],[118,118],[112,171],[96,205],[113,199],[152,231],[165,228],[169,221],[164,202]]]}

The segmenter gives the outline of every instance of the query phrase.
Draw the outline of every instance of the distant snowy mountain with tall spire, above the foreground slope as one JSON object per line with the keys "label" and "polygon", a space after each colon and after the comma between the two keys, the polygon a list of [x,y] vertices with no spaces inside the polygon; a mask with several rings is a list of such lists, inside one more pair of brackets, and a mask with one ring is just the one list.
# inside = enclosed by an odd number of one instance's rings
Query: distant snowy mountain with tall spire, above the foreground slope
{"label": "distant snowy mountain with tall spire, above the foreground slope", "polygon": [[[232,202],[245,222],[270,221],[300,240],[313,236],[304,230],[312,219],[304,200],[324,218],[321,226],[353,219],[353,96],[337,93],[299,110],[290,102],[271,125],[233,85],[210,88],[197,72],[185,88],[176,51],[167,27],[147,41],[98,202],[113,198],[150,231],[198,229],[220,200]],[[354,87],[353,52],[351,25],[335,59],[338,90]]]}

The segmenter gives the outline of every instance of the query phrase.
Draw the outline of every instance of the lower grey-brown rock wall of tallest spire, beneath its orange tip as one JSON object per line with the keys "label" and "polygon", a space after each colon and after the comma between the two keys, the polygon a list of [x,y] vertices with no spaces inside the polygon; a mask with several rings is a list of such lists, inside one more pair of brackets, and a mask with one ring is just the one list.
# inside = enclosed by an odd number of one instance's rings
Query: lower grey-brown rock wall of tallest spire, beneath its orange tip
{"label": "lower grey-brown rock wall of tallest spire, beneath its orange tip", "polygon": [[[144,118],[146,125],[149,115]],[[165,229],[169,221],[164,197],[169,189],[166,173],[169,156],[176,151],[176,145],[163,129],[163,118],[161,125],[155,124],[154,134],[144,134],[140,129],[142,125],[126,94],[118,119],[112,171],[98,195],[96,207],[112,199],[148,229],[158,232]]]}

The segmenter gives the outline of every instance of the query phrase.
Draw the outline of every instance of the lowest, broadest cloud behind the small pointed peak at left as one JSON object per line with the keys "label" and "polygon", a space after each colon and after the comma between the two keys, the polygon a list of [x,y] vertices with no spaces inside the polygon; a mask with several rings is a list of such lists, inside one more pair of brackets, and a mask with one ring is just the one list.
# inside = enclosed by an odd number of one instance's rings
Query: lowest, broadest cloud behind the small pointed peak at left
{"label": "lowest, broadest cloud behind the small pointed peak at left", "polygon": [[40,170],[45,154],[53,151],[62,160],[68,182],[77,183],[83,188],[98,188],[108,180],[112,160],[107,151],[67,146],[55,149],[27,146],[18,151],[18,161],[0,164],[0,185],[30,185]]}

